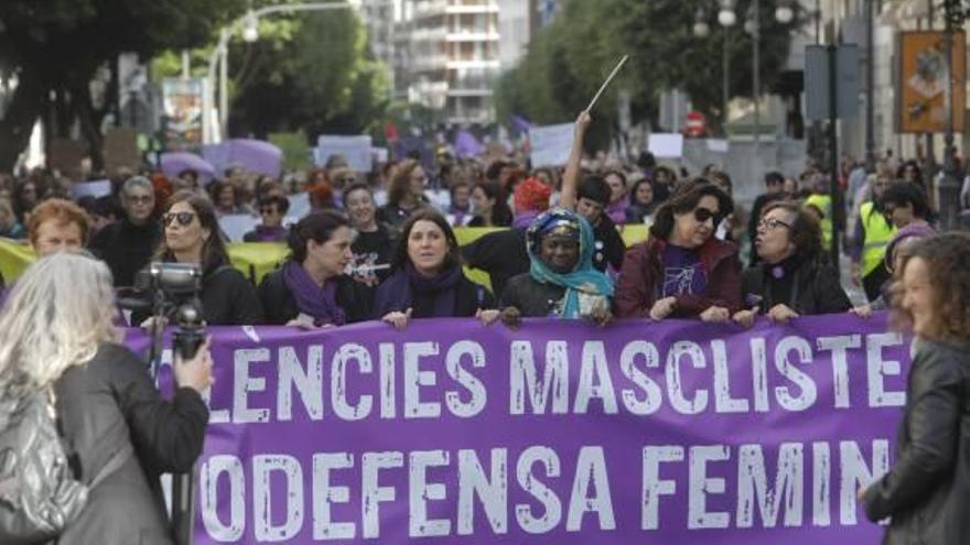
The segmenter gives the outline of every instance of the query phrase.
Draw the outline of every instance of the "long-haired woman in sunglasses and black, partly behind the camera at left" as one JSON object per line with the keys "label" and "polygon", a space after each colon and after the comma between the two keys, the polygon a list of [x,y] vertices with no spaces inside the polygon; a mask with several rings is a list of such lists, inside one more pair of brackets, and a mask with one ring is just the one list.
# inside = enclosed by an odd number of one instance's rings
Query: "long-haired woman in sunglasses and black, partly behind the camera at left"
{"label": "long-haired woman in sunglasses and black, partly behind the camera at left", "polygon": [[[239,326],[262,323],[262,308],[256,288],[229,264],[219,236],[212,203],[195,193],[172,195],[162,215],[165,237],[155,260],[195,264],[202,268],[202,315],[209,326]],[[137,312],[132,324],[149,325],[147,314]]]}

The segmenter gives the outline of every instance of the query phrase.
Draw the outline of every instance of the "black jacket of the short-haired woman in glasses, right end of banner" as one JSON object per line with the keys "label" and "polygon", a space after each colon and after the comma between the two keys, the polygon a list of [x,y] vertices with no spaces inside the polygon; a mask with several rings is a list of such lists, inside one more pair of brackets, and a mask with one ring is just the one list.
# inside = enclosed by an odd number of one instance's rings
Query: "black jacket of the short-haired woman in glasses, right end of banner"
{"label": "black jacket of the short-haired woman in glasses, right end of banner", "polygon": [[843,313],[852,308],[852,302],[842,290],[839,272],[827,263],[810,261],[802,263],[790,275],[791,296],[786,301],[772,293],[768,275],[770,266],[758,263],[744,271],[741,281],[741,304],[745,308],[754,306],[752,296],[759,297],[762,312],[767,313],[777,304],[787,305],[801,316],[815,314]]}

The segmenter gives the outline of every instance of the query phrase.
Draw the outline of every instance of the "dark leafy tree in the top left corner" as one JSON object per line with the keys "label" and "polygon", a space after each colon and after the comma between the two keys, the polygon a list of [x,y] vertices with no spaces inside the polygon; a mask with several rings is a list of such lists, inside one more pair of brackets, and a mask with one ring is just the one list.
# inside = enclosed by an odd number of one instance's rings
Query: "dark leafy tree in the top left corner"
{"label": "dark leafy tree in the top left corner", "polygon": [[[206,43],[245,6],[242,0],[0,2],[0,72],[18,83],[0,119],[0,171],[13,166],[39,118],[56,119],[58,135],[79,121],[99,163],[100,124],[110,100],[94,102],[89,83],[95,73],[125,52],[151,58],[166,48]],[[112,75],[108,96],[117,86]]]}

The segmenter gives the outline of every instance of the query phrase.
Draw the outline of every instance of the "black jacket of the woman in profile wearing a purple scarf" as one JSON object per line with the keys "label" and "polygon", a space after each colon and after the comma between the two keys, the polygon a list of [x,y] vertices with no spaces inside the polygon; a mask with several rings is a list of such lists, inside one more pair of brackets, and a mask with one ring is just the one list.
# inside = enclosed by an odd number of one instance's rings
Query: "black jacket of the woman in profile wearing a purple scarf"
{"label": "black jacket of the woman in profile wearing a purple scarf", "polygon": [[[370,317],[370,303],[374,290],[358,286],[349,276],[336,279],[337,305],[347,315],[347,323],[364,321]],[[262,277],[259,283],[259,301],[266,315],[266,324],[285,325],[300,315],[293,293],[283,282],[283,271],[277,270]]]}

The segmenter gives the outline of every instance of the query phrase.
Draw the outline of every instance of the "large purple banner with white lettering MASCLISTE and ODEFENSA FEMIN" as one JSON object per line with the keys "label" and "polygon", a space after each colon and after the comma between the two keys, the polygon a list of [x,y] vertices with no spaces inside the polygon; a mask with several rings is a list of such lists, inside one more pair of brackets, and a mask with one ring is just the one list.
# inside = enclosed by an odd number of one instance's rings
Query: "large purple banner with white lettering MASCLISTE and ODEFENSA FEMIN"
{"label": "large purple banner with white lettering MASCLISTE and ODEFENSA FEMIN", "polygon": [[527,320],[215,328],[200,544],[858,544],[909,341]]}

